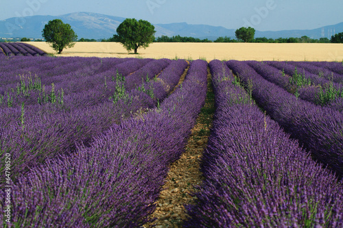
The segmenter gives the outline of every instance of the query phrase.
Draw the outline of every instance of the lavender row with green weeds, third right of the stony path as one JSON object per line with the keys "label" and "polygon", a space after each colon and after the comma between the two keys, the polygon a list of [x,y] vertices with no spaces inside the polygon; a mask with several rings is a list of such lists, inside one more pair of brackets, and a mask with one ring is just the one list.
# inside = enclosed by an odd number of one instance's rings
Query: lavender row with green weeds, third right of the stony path
{"label": "lavender row with green weeds, third right of the stony path", "polygon": [[341,97],[337,97],[335,99],[332,98],[329,100],[322,95],[325,94],[325,92],[328,92],[327,90],[330,89],[330,84],[324,86],[323,88],[319,88],[315,85],[298,88],[297,85],[294,85],[289,81],[289,75],[283,75],[278,68],[257,61],[247,61],[246,63],[254,68],[254,70],[257,71],[257,73],[259,73],[259,75],[261,75],[264,79],[276,84],[277,86],[280,86],[281,88],[287,90],[287,92],[291,92],[293,94],[298,92],[298,97],[300,99],[317,105],[325,105],[339,112],[343,111],[343,104],[339,105],[341,103],[340,101],[342,101]]}

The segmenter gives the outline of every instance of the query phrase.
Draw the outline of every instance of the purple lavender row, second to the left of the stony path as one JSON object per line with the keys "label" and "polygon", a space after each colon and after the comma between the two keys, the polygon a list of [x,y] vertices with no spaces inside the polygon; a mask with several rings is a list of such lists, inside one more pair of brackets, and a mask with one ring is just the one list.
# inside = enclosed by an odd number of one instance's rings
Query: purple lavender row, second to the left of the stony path
{"label": "purple lavender row, second to the left of the stony path", "polygon": [[[130,61],[125,63],[130,64]],[[177,81],[186,66],[185,60],[173,61],[163,75],[165,73]],[[161,80],[163,78],[152,83],[152,88],[159,88],[152,91],[154,97],[132,89],[125,92],[126,99],[113,103],[108,98],[116,92],[117,81],[110,81],[106,88],[102,85],[67,96],[62,104],[28,105],[8,108],[7,112],[3,110],[0,121],[3,142],[0,148],[11,151],[14,171],[19,175],[27,167],[36,166],[48,157],[75,149],[75,142],[88,144],[93,136],[113,123],[120,123],[137,110],[154,107],[156,99],[162,101],[169,89],[175,86],[175,83],[161,84]],[[1,155],[1,160],[5,159],[4,156]],[[2,183],[3,178],[0,180]]]}

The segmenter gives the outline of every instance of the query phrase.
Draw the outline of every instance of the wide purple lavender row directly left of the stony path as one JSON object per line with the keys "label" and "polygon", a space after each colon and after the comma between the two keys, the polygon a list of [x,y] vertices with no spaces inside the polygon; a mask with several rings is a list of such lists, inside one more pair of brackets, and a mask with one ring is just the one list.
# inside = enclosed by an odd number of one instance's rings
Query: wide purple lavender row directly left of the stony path
{"label": "wide purple lavender row directly left of the stony path", "polygon": [[[19,177],[13,184],[12,224],[16,227],[145,224],[156,207],[154,202],[168,166],[180,157],[204,105],[206,76],[207,63],[192,62],[182,86],[160,107],[113,125],[95,137],[89,147],[82,145],[73,155],[49,159]],[[4,192],[0,196],[3,201]]]}

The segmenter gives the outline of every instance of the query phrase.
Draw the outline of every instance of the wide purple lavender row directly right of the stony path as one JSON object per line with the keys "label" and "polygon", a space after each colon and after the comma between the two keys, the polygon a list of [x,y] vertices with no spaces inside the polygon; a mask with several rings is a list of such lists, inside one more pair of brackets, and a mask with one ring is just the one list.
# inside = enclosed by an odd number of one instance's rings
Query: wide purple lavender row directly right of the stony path
{"label": "wide purple lavender row directly right of the stony path", "polygon": [[342,227],[338,179],[253,104],[225,64],[209,66],[217,110],[185,227]]}

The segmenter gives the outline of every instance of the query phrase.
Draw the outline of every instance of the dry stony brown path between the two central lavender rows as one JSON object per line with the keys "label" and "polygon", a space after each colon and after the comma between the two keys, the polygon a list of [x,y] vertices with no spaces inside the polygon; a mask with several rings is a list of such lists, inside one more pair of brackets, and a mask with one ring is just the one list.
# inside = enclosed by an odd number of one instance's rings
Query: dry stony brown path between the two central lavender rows
{"label": "dry stony brown path between the two central lavender rows", "polygon": [[166,183],[160,194],[157,207],[151,218],[156,218],[153,223],[143,227],[182,227],[182,220],[187,218],[184,205],[195,203],[196,197],[191,193],[196,192],[194,186],[202,183],[200,173],[200,160],[207,144],[214,112],[214,98],[211,86],[211,74],[208,74],[208,92],[206,103],[202,107],[196,125],[191,130],[185,153],[179,160],[171,164]]}

